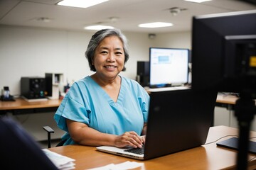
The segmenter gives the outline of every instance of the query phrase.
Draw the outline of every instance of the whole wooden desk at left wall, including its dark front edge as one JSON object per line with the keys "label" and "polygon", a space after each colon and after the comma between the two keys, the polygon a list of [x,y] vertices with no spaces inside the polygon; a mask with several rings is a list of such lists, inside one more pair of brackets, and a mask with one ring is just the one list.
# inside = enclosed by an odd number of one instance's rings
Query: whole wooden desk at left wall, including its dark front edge
{"label": "whole wooden desk at left wall, including its dark front edge", "polygon": [[56,111],[61,101],[61,99],[53,99],[48,101],[28,102],[23,98],[16,98],[16,101],[0,101],[0,113],[5,114],[11,112],[21,114]]}

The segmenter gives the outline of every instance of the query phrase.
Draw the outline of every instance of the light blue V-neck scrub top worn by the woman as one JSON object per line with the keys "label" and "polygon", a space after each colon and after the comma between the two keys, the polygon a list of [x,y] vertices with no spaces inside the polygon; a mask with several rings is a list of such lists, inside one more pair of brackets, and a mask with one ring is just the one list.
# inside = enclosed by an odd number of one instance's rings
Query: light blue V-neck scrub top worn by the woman
{"label": "light blue V-neck scrub top worn by the woman", "polygon": [[64,145],[75,144],[68,133],[66,118],[103,133],[122,135],[135,131],[141,135],[148,117],[149,94],[137,81],[121,79],[117,102],[90,76],[70,87],[54,115],[58,127],[66,132],[62,137],[67,140]]}

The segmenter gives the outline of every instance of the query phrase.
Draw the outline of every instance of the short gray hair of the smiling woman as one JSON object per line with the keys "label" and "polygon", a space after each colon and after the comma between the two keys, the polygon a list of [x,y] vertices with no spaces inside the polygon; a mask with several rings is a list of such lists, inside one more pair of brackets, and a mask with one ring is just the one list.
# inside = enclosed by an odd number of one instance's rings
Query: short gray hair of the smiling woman
{"label": "short gray hair of the smiling woman", "polygon": [[[98,45],[100,45],[100,42],[104,38],[110,37],[110,36],[117,36],[123,43],[124,46],[124,64],[128,61],[129,59],[129,52],[128,52],[128,42],[127,38],[125,37],[124,34],[122,34],[121,30],[118,29],[103,29],[103,30],[98,30],[94,35],[92,35],[92,38],[90,39],[90,42],[87,46],[87,50],[85,52],[85,57],[87,58],[90,66],[90,70],[93,72],[96,72],[95,66],[92,64],[94,56],[95,56],[95,50]],[[126,68],[124,67],[122,71],[125,71]]]}

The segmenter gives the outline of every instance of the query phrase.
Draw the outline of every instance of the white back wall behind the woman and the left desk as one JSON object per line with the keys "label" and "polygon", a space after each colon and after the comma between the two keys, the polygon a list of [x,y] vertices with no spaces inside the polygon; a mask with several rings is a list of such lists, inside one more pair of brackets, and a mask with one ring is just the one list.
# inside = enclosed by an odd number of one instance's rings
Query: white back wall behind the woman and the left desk
{"label": "white back wall behind the woman and the left desk", "polygon": [[[93,32],[75,32],[43,28],[0,26],[0,89],[9,86],[11,95],[20,94],[21,77],[45,77],[46,72],[63,73],[65,82],[92,74],[85,50]],[[146,33],[124,33],[129,40],[130,58],[127,71],[121,74],[135,79],[137,61],[149,61],[149,47],[191,48],[190,33],[156,34],[151,40]],[[36,140],[46,140],[43,125],[63,134],[55,126],[54,113],[14,115]]]}

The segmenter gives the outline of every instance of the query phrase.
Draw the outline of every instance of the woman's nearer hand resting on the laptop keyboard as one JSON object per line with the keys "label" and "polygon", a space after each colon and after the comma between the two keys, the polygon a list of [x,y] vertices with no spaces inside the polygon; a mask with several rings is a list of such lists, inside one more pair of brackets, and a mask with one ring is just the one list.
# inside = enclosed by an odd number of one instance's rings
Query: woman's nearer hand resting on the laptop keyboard
{"label": "woman's nearer hand resting on the laptop keyboard", "polygon": [[124,132],[124,134],[117,136],[114,141],[115,147],[131,146],[134,148],[142,147],[143,140],[136,132]]}

